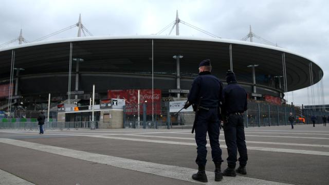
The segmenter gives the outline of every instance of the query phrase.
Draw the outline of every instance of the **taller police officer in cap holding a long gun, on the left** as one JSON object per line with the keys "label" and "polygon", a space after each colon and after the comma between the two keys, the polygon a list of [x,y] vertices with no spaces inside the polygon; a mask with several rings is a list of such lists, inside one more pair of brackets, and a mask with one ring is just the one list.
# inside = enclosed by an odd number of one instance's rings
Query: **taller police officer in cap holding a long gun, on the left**
{"label": "taller police officer in cap holding a long gun, on the left", "polygon": [[[197,157],[195,162],[198,165],[198,172],[192,175],[197,181],[207,182],[205,166],[207,162],[207,132],[211,146],[211,156],[215,163],[215,181],[223,179],[221,172],[222,150],[218,141],[220,135],[220,105],[222,102],[223,84],[216,77],[211,75],[210,60],[204,60],[199,64],[199,76],[192,83],[188,101],[184,108],[193,104],[195,113],[195,142],[197,145]],[[193,131],[192,131],[193,132]]]}

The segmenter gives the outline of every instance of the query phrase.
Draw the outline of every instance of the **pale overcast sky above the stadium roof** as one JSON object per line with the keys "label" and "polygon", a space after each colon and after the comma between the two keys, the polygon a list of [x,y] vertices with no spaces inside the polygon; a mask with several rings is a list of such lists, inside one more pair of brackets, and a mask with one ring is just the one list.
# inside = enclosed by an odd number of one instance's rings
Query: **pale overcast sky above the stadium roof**
{"label": "pale overcast sky above the stadium roof", "polygon": [[[297,52],[324,71],[325,103],[329,104],[329,1],[16,1],[0,5],[0,45],[19,36],[34,41],[78,22],[93,35],[154,34],[179,18],[221,38],[241,40],[252,31],[280,47]],[[169,33],[167,31],[163,34]],[[174,33],[174,31],[173,31]],[[172,33],[172,34],[173,34]],[[77,35],[77,28],[50,39]],[[180,24],[180,35],[209,38]],[[254,39],[254,42],[261,41]],[[14,43],[18,44],[18,42]],[[287,71],[289,72],[289,71]],[[318,85],[314,85],[315,92]],[[317,93],[315,93],[317,96]],[[288,93],[289,102],[292,100]],[[315,104],[320,99],[315,98]],[[295,104],[307,105],[307,90],[294,91]],[[311,103],[311,102],[309,102]],[[321,103],[320,103],[321,104]]]}

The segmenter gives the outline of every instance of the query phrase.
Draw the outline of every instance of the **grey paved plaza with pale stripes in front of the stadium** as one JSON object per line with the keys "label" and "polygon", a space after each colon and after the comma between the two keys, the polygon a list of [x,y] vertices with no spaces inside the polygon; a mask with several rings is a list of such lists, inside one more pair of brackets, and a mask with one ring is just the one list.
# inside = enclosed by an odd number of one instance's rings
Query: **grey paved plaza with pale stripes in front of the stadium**
{"label": "grey paved plaza with pale stripes in front of the stadium", "polygon": [[[329,125],[245,129],[247,175],[208,183],[197,170],[191,130],[0,130],[0,184],[329,184]],[[208,142],[209,143],[209,142]],[[224,132],[222,170],[227,167]]]}

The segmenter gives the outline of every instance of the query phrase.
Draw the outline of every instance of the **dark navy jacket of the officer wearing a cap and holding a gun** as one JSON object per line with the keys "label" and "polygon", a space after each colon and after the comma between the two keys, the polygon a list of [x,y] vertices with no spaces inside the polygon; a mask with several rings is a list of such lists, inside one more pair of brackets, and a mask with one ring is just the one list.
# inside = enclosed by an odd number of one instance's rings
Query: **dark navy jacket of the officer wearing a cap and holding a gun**
{"label": "dark navy jacket of the officer wearing a cap and holding a gun", "polygon": [[192,104],[198,104],[200,97],[200,105],[203,107],[218,107],[223,101],[223,83],[209,71],[199,73],[192,83],[188,101]]}

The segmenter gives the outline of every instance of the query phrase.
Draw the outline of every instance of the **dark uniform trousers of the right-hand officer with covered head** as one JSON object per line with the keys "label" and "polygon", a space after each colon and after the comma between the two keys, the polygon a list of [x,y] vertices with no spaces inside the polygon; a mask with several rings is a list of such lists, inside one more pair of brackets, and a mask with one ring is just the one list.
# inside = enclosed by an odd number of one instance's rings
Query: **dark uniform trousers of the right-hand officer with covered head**
{"label": "dark uniform trousers of the right-hand officer with covered head", "polygon": [[242,167],[245,167],[248,160],[246,138],[244,132],[244,118],[242,115],[231,114],[228,117],[228,122],[224,125],[225,143],[227,146],[227,163],[229,168],[235,168],[237,161],[237,150],[239,151],[239,162]]}

